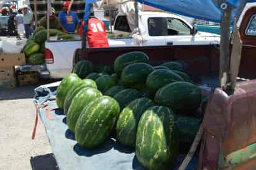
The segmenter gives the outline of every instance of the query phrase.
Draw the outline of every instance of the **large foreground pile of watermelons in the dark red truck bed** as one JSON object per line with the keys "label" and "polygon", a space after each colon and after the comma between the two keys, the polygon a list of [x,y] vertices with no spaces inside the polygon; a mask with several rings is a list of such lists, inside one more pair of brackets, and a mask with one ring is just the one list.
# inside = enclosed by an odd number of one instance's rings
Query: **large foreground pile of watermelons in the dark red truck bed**
{"label": "large foreground pile of watermelons in the dark red truck bed", "polygon": [[135,149],[142,166],[158,170],[190,148],[201,124],[199,87],[180,63],[149,63],[137,51],[119,56],[114,66],[76,63],[58,86],[57,105],[78,145],[93,150],[114,135]]}

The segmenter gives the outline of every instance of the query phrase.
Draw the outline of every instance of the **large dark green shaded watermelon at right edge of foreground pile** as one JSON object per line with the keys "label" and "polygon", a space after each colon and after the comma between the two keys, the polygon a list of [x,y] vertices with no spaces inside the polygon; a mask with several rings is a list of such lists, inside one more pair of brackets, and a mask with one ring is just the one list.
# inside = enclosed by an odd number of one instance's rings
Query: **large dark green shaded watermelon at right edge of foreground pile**
{"label": "large dark green shaded watermelon at right edge of foreground pile", "polygon": [[175,82],[163,86],[155,94],[155,102],[170,107],[176,114],[193,113],[201,104],[201,91],[188,82]]}

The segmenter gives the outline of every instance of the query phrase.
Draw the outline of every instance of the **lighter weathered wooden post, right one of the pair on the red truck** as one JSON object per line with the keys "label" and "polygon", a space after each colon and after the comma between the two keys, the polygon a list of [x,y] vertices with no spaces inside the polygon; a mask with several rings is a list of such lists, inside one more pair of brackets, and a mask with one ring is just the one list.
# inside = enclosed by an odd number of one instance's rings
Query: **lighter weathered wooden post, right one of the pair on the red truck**
{"label": "lighter weathered wooden post, right one of the pair on the red truck", "polygon": [[240,38],[239,29],[237,29],[237,20],[234,19],[234,29],[232,35],[232,53],[231,53],[231,71],[230,71],[230,81],[231,89],[235,89],[235,83],[237,81],[237,76],[239,72],[239,65],[242,53],[242,40]]}

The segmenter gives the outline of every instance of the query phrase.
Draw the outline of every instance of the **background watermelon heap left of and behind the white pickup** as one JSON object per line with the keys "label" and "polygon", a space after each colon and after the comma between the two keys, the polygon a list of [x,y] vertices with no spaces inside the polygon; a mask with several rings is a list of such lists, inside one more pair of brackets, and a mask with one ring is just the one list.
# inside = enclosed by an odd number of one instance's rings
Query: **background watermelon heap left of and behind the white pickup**
{"label": "background watermelon heap left of and behind the white pickup", "polygon": [[[75,40],[72,35],[60,32],[60,30],[50,29],[50,36],[58,36],[59,39]],[[45,41],[47,40],[47,30],[44,27],[37,27],[32,36],[22,49],[30,65],[42,65],[45,62]]]}

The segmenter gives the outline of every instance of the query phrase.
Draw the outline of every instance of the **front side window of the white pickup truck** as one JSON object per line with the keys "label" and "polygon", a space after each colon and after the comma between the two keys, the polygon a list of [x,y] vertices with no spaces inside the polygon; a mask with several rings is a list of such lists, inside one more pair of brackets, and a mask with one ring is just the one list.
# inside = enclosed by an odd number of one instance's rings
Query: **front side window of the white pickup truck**
{"label": "front side window of the white pickup truck", "polygon": [[150,17],[148,25],[150,36],[191,35],[190,27],[179,19]]}

